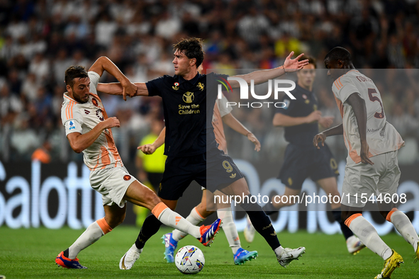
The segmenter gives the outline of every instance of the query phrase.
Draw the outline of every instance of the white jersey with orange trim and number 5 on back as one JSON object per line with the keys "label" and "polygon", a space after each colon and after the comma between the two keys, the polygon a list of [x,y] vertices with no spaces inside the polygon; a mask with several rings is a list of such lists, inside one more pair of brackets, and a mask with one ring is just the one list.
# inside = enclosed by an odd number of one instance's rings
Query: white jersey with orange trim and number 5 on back
{"label": "white jersey with orange trim and number 5 on back", "polygon": [[357,70],[350,70],[336,79],[332,86],[337,106],[342,115],[343,137],[348,149],[348,156],[354,163],[359,163],[361,157],[361,140],[359,138],[357,118],[352,106],[346,103],[352,93],[359,93],[367,108],[367,143],[369,157],[396,151],[403,145],[403,139],[393,125],[386,121],[383,102],[379,89],[374,82]]}

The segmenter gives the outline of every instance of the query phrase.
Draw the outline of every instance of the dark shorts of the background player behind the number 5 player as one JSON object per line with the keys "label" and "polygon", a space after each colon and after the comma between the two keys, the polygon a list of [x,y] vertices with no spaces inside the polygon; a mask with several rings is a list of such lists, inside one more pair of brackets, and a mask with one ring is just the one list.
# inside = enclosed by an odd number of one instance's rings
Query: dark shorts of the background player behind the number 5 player
{"label": "dark shorts of the background player behind the number 5 player", "polygon": [[326,144],[320,149],[289,144],[278,178],[286,187],[301,190],[308,177],[318,181],[338,175],[337,162]]}

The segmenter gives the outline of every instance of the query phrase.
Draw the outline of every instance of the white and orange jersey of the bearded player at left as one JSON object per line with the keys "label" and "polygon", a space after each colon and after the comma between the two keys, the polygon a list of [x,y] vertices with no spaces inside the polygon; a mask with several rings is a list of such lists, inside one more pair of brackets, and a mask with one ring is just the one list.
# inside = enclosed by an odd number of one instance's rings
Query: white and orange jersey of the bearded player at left
{"label": "white and orange jersey of the bearded player at left", "polygon": [[[64,93],[64,102],[61,107],[62,125],[65,127],[65,135],[72,132],[85,134],[92,130],[101,121],[108,118],[96,87],[99,83],[99,74],[89,72],[90,94],[89,101],[78,103]],[[115,166],[123,166],[121,157],[116,149],[111,129],[105,129],[91,146],[83,150],[84,164],[91,170],[106,169]]]}

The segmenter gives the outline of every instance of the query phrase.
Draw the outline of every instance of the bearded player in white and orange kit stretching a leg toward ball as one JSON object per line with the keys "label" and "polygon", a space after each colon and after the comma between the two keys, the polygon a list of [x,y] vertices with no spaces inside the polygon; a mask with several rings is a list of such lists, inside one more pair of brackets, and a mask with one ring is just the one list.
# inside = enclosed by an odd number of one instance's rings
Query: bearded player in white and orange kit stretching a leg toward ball
{"label": "bearded player in white and orange kit stretching a leg toward ball", "polygon": [[[107,57],[97,59],[89,72],[80,66],[72,66],[65,71],[67,92],[64,93],[61,108],[62,124],[74,152],[84,153],[84,164],[91,171],[91,187],[102,195],[105,217],[90,224],[72,246],[58,254],[55,262],[63,268],[86,268],[79,263],[77,254],[123,222],[127,200],[147,207],[163,224],[187,232],[208,246],[220,229],[220,219],[209,226],[194,226],[164,205],[150,188],[130,176],[123,166],[111,131],[111,128],[120,126],[119,120],[108,118],[96,92],[99,78],[105,70],[121,82],[124,99],[126,94],[135,94],[136,86]],[[130,269],[132,265],[125,263],[135,261],[140,253],[135,251],[123,256],[120,268]]]}

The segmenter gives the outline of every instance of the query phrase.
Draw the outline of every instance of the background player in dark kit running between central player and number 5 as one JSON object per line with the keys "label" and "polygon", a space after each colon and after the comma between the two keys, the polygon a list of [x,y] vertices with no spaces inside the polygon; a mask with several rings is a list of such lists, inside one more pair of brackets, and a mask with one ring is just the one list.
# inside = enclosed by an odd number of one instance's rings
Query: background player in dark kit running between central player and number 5
{"label": "background player in dark kit running between central player and number 5", "polygon": [[[326,195],[340,196],[336,182],[339,171],[332,152],[327,145],[323,149],[313,148],[313,137],[318,134],[318,124],[328,128],[333,123],[333,117],[323,117],[321,111],[318,110],[317,98],[313,92],[315,59],[304,56],[301,59],[308,59],[308,65],[297,72],[296,89],[292,91],[296,100],[291,100],[288,95],[284,95],[282,102],[286,103],[286,106],[276,108],[273,120],[275,127],[284,127],[284,136],[289,142],[278,177],[285,185],[283,195],[288,197],[284,199],[288,200],[288,203],[281,203],[278,196],[273,197],[272,203],[267,203],[263,207],[267,215],[272,215],[281,207],[294,205],[295,200],[291,197],[301,193],[303,182],[308,177],[318,183],[325,190]],[[340,224],[340,229],[346,239],[347,251],[350,254],[357,254],[365,247],[364,244],[342,221],[340,203],[331,203],[330,207],[332,207],[333,217]],[[245,238],[252,242],[254,237],[255,229],[247,218]]]}

